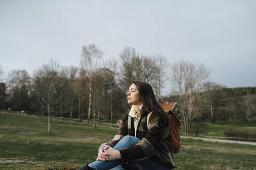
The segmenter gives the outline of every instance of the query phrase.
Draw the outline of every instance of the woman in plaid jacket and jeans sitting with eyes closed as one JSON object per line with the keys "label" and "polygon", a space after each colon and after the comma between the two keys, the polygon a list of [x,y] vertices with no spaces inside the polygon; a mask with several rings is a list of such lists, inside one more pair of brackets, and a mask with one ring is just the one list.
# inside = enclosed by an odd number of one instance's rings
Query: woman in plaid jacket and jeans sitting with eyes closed
{"label": "woman in plaid jacket and jeans sitting with eyes closed", "polygon": [[169,120],[149,83],[133,81],[126,93],[132,107],[120,122],[119,133],[99,147],[97,161],[84,169],[171,169],[173,155]]}

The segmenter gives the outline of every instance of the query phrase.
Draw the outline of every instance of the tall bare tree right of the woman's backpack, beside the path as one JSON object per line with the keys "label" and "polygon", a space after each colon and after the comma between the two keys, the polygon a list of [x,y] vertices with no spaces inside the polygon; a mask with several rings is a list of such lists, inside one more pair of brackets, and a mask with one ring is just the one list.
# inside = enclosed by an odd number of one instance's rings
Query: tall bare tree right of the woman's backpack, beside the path
{"label": "tall bare tree right of the woman's backpack, beside the path", "polygon": [[205,81],[208,80],[210,70],[203,64],[179,61],[171,65],[171,83],[173,90],[179,95],[179,104],[184,120],[184,135],[189,134],[189,121],[194,119],[195,101]]}

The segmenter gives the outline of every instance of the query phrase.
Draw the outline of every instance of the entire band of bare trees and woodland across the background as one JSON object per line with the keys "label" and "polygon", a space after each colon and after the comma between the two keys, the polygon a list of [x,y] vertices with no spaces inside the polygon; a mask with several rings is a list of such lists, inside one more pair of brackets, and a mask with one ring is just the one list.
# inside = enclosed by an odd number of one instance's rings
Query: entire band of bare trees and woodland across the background
{"label": "entire band of bare trees and woodland across the background", "polygon": [[[161,54],[145,55],[125,47],[118,60],[104,61],[95,45],[83,46],[80,66],[60,66],[51,59],[29,75],[12,70],[6,79],[0,68],[0,109],[34,112],[42,116],[78,120],[121,119],[130,107],[126,92],[133,80],[151,84],[159,103],[177,102],[178,114],[189,135],[193,121],[236,122],[256,118],[256,87],[226,88],[210,82],[202,63],[170,64]],[[167,89],[165,85],[171,85]],[[162,96],[162,92],[170,92]],[[198,130],[202,124],[195,124]],[[50,129],[50,127],[49,127]],[[50,133],[50,132],[49,132]]]}

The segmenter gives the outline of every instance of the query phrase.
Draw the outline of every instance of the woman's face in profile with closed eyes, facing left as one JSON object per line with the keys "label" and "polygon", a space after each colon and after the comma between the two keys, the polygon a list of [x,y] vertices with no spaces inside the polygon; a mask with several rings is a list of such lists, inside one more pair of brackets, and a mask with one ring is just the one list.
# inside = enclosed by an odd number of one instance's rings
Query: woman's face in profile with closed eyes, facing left
{"label": "woman's face in profile with closed eyes, facing left", "polygon": [[126,95],[127,95],[127,103],[131,105],[142,104],[142,101],[140,100],[138,88],[134,83],[132,83]]}

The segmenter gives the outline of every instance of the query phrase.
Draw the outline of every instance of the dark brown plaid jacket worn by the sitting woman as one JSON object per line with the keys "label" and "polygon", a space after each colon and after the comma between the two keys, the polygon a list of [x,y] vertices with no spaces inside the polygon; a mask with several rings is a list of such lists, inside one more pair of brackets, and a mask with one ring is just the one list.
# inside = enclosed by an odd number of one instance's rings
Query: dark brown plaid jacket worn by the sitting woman
{"label": "dark brown plaid jacket worn by the sitting woman", "polygon": [[[152,158],[164,166],[175,168],[173,154],[166,141],[171,137],[169,127],[164,127],[162,120],[157,114],[148,112],[144,106],[138,118],[137,129],[134,131],[134,118],[129,115],[129,109],[123,116],[119,132],[107,145],[114,147],[125,135],[131,135],[141,139],[136,145],[118,149],[122,155],[122,163],[138,163]],[[163,112],[162,114],[165,114]]]}

